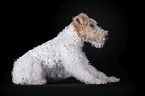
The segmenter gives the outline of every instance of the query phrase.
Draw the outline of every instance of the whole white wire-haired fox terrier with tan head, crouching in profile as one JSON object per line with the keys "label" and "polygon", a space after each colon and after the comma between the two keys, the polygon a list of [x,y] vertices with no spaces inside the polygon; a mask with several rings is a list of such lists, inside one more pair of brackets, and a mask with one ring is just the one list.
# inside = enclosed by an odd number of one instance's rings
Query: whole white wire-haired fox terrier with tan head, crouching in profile
{"label": "whole white wire-haired fox terrier with tan head, crouching in profile", "polygon": [[29,50],[14,62],[12,82],[21,85],[43,85],[47,80],[74,77],[85,84],[107,84],[120,79],[107,77],[90,65],[82,50],[84,42],[103,47],[108,31],[85,13],[73,18],[54,39]]}

